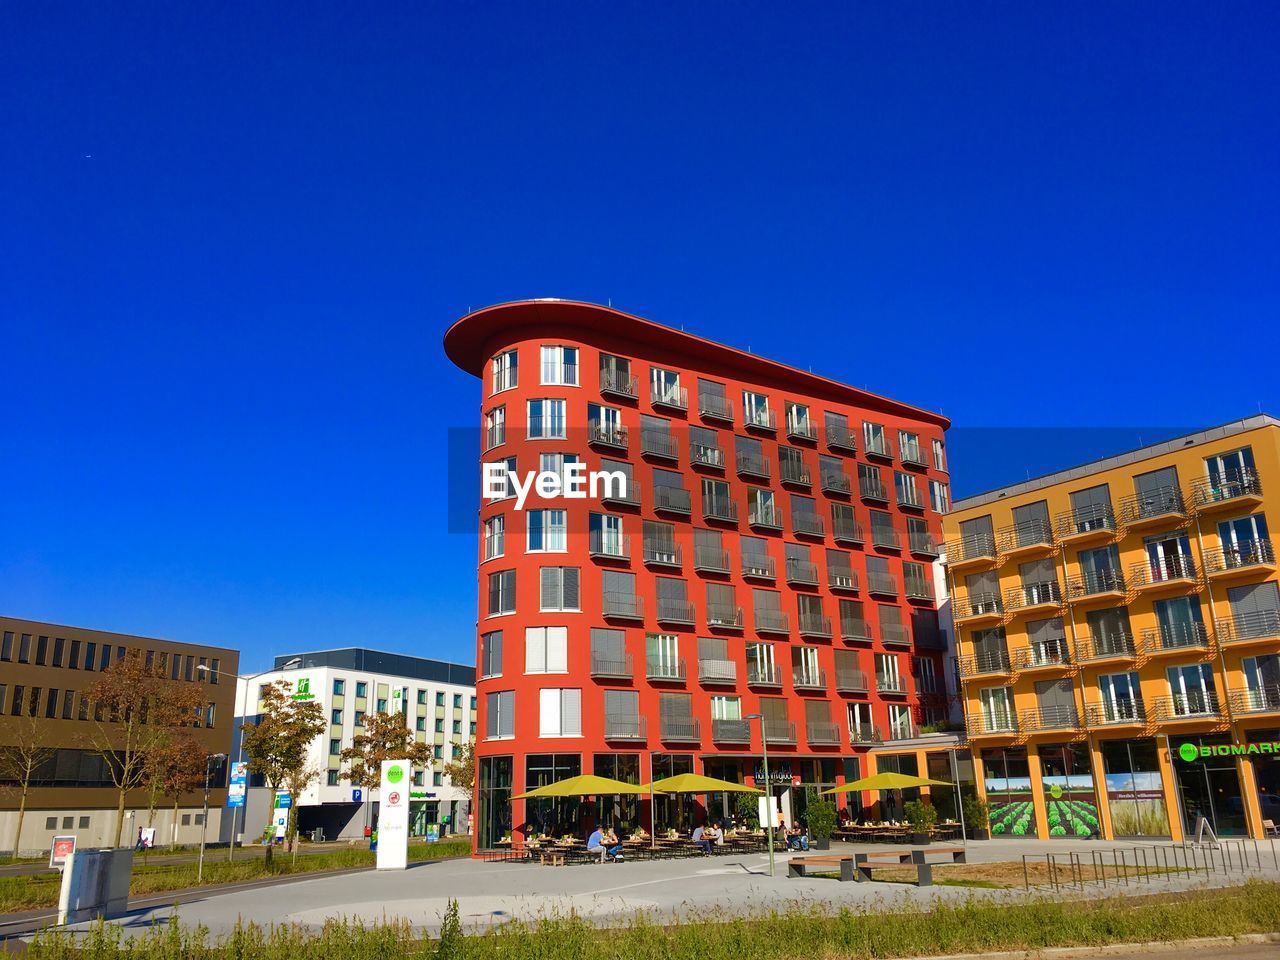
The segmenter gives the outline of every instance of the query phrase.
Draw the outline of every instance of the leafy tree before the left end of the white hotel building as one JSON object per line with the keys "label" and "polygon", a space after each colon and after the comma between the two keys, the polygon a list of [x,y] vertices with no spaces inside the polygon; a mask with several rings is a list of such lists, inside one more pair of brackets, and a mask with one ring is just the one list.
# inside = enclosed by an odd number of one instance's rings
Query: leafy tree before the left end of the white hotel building
{"label": "leafy tree before the left end of the white hotel building", "polygon": [[[324,732],[324,708],[315,700],[296,699],[293,684],[278,680],[261,689],[262,709],[257,723],[246,723],[243,745],[248,769],[266,781],[271,792],[289,794],[289,829],[296,820],[300,772],[306,768],[307,749]],[[291,778],[293,786],[291,787]],[[271,864],[271,845],[266,846],[266,863]]]}

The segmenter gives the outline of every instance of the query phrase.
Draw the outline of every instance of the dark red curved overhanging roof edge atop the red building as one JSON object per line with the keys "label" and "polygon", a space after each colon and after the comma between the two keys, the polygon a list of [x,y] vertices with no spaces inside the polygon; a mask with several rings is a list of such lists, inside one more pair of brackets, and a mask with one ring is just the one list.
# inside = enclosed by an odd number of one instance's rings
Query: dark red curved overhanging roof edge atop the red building
{"label": "dark red curved overhanging roof edge atop the red building", "polygon": [[635,314],[626,314],[600,303],[580,300],[516,300],[474,310],[456,320],[444,334],[444,352],[458,367],[475,376],[484,375],[484,365],[489,360],[489,344],[499,334],[518,326],[539,324],[567,324],[588,329],[607,329],[611,334],[639,340],[640,343],[669,348],[673,355],[694,358],[717,360],[730,364],[749,375],[765,379],[788,380],[797,390],[827,393],[844,398],[855,406],[881,410],[899,416],[924,420],[941,426],[951,426],[951,421],[931,410],[914,407],[869,390],[832,380],[799,367],[768,360],[756,353],[730,347],[705,337],[698,337],[673,326],[646,320]]}

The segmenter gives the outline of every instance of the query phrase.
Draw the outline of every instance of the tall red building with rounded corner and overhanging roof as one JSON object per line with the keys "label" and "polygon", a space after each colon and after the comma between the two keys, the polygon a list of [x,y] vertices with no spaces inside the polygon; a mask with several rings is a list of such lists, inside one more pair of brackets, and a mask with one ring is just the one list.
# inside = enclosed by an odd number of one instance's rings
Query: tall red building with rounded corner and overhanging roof
{"label": "tall red building with rounded corner and overhanging roof", "polygon": [[753,782],[762,732],[799,818],[800,787],[945,719],[945,417],[590,303],[488,307],[444,347],[481,379],[484,463],[628,479],[481,497],[479,847],[705,815],[511,795],[579,773]]}

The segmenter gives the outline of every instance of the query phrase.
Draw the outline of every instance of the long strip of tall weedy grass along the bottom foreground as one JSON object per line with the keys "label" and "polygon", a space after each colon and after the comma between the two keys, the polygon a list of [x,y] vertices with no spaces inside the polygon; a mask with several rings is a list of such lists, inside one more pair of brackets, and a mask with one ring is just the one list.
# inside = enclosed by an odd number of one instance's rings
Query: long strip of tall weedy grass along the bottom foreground
{"label": "long strip of tall weedy grass along the bottom foreground", "polygon": [[972,897],[929,909],[909,901],[888,909],[829,910],[792,904],[754,918],[704,918],[660,924],[637,918],[600,929],[579,916],[511,923],[463,936],[452,905],[438,941],[403,923],[330,922],[323,931],[238,927],[223,938],[179,924],[156,927],[132,943],[114,924],[83,941],[67,933],[35,937],[32,960],[800,960],[800,957],[931,956],[1038,950],[1280,931],[1280,884],[1251,881],[1189,895],[1061,902],[993,902]]}

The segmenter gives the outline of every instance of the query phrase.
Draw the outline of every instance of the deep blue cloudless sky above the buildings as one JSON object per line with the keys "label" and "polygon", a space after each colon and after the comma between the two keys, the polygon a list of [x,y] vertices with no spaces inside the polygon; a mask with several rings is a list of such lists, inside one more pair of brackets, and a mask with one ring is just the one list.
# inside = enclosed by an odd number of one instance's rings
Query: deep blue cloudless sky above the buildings
{"label": "deep blue cloudless sky above the buildings", "polygon": [[216,8],[0,14],[5,613],[470,662],[508,298],[942,410],[960,493],[1280,411],[1275,4]]}

